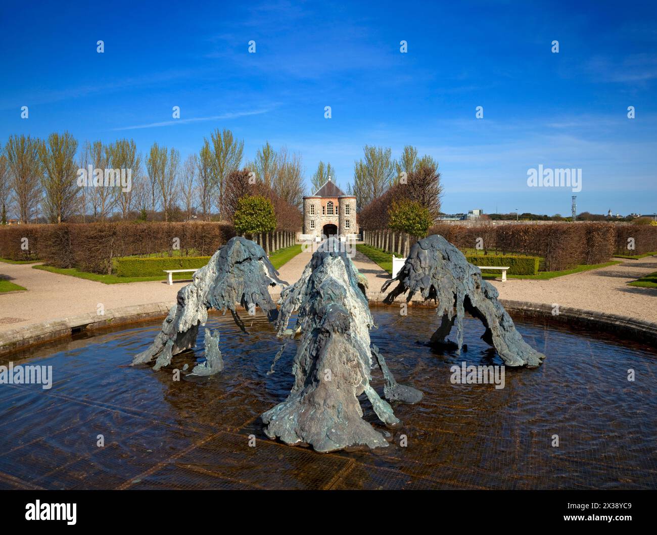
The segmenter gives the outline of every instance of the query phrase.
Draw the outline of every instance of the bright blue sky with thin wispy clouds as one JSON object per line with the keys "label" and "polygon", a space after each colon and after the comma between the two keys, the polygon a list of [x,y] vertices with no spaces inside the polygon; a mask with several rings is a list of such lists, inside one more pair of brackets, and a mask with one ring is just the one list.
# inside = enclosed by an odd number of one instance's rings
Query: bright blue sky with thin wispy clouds
{"label": "bright blue sky with thin wispy clouds", "polygon": [[579,211],[654,212],[656,14],[631,1],[3,2],[0,142],[68,130],[184,158],[229,128],[247,158],[269,140],[302,155],[307,184],[324,160],[340,186],[364,144],[395,157],[412,144],[438,160],[447,212],[568,215],[570,188],[527,186],[539,164],[582,169]]}

